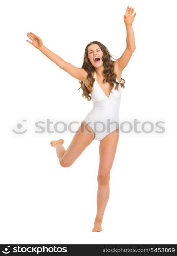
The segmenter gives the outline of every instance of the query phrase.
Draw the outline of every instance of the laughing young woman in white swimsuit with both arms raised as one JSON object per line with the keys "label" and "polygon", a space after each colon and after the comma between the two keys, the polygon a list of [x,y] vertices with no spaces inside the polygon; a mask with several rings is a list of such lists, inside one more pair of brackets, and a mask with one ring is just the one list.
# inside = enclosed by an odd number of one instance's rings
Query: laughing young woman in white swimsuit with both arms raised
{"label": "laughing young woman in white swimsuit with both arms raised", "polygon": [[[111,60],[108,49],[98,41],[90,42],[85,48],[82,68],[77,68],[43,45],[40,37],[27,33],[31,45],[39,49],[61,69],[79,80],[87,100],[92,98],[93,108],[86,115],[67,150],[63,139],[53,140],[56,154],[62,167],[71,166],[93,139],[99,140],[100,163],[98,169],[97,214],[92,232],[102,231],[102,220],[109,199],[110,170],[113,165],[119,140],[119,106],[125,80],[122,71],[135,50],[132,23],[136,16],[134,8],[127,7],[124,23],[127,31],[127,46],[122,56]],[[121,80],[123,83],[121,83]],[[79,88],[79,89],[80,89]],[[90,96],[91,95],[91,96]]]}

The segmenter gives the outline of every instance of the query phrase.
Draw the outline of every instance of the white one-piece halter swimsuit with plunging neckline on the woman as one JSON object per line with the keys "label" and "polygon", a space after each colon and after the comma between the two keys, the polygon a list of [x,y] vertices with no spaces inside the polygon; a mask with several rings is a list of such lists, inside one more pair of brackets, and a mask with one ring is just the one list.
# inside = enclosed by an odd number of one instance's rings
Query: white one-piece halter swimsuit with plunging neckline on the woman
{"label": "white one-piece halter swimsuit with plunging neckline on the woman", "polygon": [[116,84],[112,88],[109,97],[103,92],[97,82],[97,73],[94,72],[95,82],[92,87],[93,108],[86,115],[84,121],[94,131],[96,140],[102,140],[106,135],[119,127],[119,107],[122,97],[122,87],[119,83],[118,90]]}

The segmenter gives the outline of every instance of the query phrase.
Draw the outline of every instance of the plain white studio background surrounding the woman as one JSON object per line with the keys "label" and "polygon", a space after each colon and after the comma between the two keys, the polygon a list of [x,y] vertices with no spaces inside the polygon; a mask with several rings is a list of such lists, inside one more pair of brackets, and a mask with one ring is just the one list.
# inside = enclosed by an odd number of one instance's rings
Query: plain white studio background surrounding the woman
{"label": "plain white studio background surrounding the woman", "polygon": [[[176,244],[175,4],[1,2],[1,244]],[[81,123],[92,101],[81,97],[78,80],[30,45],[26,34],[37,34],[77,67],[93,40],[119,58],[126,48],[128,5],[137,13],[136,50],[122,73],[120,121],[162,121],[165,132],[155,132],[156,126],[151,133],[120,131],[103,231],[93,233],[99,141],[63,168],[50,141],[63,138],[67,148],[74,134],[35,132],[36,121]],[[26,133],[12,132],[18,123]]]}

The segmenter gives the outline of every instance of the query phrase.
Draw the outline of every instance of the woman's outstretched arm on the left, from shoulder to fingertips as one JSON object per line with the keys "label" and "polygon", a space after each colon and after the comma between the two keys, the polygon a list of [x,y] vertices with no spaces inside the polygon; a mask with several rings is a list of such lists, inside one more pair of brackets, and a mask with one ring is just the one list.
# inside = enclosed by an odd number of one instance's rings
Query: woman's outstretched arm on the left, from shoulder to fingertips
{"label": "woman's outstretched arm on the left, from shoulder to fingertips", "polygon": [[60,56],[50,51],[46,46],[43,45],[43,42],[39,36],[36,36],[34,33],[27,33],[27,36],[32,42],[28,41],[29,44],[36,47],[43,54],[46,55],[50,60],[52,60],[59,68],[63,69],[67,73],[69,73],[74,78],[85,81],[87,79],[87,72],[82,68],[77,68],[71,63],[64,61]]}

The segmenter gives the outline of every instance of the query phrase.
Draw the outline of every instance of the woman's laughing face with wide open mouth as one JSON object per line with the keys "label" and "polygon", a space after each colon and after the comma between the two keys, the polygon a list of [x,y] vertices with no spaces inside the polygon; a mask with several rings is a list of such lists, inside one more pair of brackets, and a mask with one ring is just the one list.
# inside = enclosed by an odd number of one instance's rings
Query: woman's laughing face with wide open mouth
{"label": "woman's laughing face with wide open mouth", "polygon": [[98,68],[103,65],[102,56],[103,52],[99,45],[92,44],[88,47],[88,58],[94,67]]}

